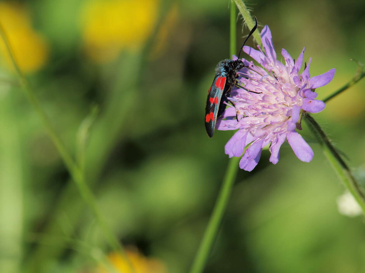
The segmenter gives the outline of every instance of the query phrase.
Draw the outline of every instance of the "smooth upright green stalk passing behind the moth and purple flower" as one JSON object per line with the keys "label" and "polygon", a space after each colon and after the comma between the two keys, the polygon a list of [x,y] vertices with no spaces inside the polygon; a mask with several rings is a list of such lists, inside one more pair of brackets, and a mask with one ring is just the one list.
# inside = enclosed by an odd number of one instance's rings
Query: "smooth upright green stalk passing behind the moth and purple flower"
{"label": "smooth upright green stalk passing behind the moth and purple flower", "polygon": [[[233,3],[231,3],[230,27],[230,56],[232,56],[233,54],[235,54],[236,51],[236,12]],[[222,222],[224,212],[226,211],[227,204],[232,193],[232,188],[236,179],[238,163],[240,159],[241,158],[239,157],[233,157],[228,162],[228,167],[219,191],[218,198],[209,219],[208,226],[205,229],[199,249],[195,255],[192,267],[190,269],[190,273],[201,273],[204,270],[205,264],[207,263],[208,256],[217,237],[220,223]]]}

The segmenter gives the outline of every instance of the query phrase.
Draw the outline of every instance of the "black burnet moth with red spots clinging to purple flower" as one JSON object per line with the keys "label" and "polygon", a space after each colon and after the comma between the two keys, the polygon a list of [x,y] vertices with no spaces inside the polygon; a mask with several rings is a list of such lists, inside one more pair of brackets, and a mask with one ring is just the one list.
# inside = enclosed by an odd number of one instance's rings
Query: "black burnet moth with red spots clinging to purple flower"
{"label": "black burnet moth with red spots clinging to purple flower", "polygon": [[[238,52],[237,60],[226,59],[220,61],[215,68],[215,78],[213,80],[212,86],[208,91],[207,105],[205,107],[205,129],[207,130],[208,136],[213,137],[215,123],[217,118],[222,115],[226,109],[226,104],[228,102],[228,96],[230,94],[232,86],[237,86],[243,88],[248,92],[253,92],[247,90],[245,87],[240,86],[237,82],[237,71],[245,67],[242,60],[239,59],[239,55],[242,52],[242,48],[246,41],[252,35],[252,33],[257,28],[257,19],[255,17],[255,25],[251,29],[246,40],[243,42],[242,47]],[[253,92],[257,93],[257,92]]]}

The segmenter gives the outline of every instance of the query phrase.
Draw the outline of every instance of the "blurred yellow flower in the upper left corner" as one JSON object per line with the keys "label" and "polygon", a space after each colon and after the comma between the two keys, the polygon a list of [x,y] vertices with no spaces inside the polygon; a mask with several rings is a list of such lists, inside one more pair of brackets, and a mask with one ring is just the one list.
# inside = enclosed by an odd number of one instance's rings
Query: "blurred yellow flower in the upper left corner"
{"label": "blurred yellow flower in the upper left corner", "polygon": [[[8,36],[16,62],[23,72],[34,72],[48,58],[48,46],[41,35],[31,26],[26,7],[15,2],[0,2],[0,21]],[[1,60],[12,68],[8,52],[0,41]]]}

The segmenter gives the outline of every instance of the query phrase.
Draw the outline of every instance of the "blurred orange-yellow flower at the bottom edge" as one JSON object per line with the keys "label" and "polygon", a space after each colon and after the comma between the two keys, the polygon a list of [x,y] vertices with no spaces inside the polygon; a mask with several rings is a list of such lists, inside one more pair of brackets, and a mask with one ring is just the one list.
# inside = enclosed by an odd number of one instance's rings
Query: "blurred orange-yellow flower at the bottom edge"
{"label": "blurred orange-yellow flower at the bottom edge", "polygon": [[[152,258],[146,258],[136,249],[128,249],[126,251],[129,261],[131,262],[135,273],[166,273],[164,264]],[[111,253],[108,256],[110,263],[114,266],[118,273],[132,273],[127,261],[119,253]],[[100,268],[98,273],[111,273]]]}

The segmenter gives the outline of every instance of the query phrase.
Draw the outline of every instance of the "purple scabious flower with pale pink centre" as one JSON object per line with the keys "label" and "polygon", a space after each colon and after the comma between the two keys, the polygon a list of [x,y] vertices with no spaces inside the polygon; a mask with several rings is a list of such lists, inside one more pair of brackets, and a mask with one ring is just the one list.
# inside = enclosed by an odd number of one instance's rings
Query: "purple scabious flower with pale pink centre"
{"label": "purple scabious flower with pale pink centre", "polygon": [[[245,68],[238,72],[238,81],[250,91],[234,87],[229,100],[234,107],[227,107],[222,117],[217,120],[218,130],[237,130],[225,146],[229,157],[239,157],[245,147],[239,167],[251,171],[257,165],[262,148],[270,144],[270,162],[279,161],[280,146],[285,139],[289,142],[295,155],[301,161],[310,162],[313,151],[295,128],[300,128],[301,110],[318,113],[325,107],[324,102],[316,100],[315,88],[329,83],[335,69],[311,78],[309,66],[299,74],[303,64],[303,51],[296,61],[283,49],[281,54],[285,64],[276,59],[272,36],[266,25],[261,33],[265,53],[251,47],[243,47],[243,51],[256,60],[260,66],[242,59]],[[234,59],[237,57],[234,56]],[[299,123],[298,123],[299,122]]]}

